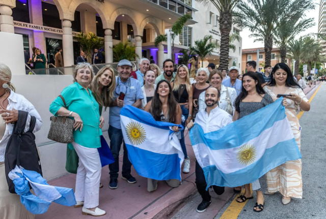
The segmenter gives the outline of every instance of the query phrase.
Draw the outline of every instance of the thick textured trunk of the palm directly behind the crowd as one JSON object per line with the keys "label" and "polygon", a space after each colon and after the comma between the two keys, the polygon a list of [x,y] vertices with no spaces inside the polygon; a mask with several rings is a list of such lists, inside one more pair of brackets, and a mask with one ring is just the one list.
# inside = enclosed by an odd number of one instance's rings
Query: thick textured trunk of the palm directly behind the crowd
{"label": "thick textured trunk of the palm directly behind the crowd", "polygon": [[232,28],[232,14],[228,11],[220,14],[220,32],[221,32],[221,47],[220,47],[220,66],[219,70],[229,69],[229,50],[230,50],[230,32]]}

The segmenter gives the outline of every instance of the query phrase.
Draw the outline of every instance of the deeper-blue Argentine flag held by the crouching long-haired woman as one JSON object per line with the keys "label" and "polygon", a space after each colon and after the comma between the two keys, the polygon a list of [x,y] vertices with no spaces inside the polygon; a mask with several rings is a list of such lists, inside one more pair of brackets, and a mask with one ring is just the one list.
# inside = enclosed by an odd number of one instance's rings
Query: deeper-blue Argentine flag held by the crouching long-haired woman
{"label": "deeper-blue Argentine flag held by the crouching long-haired woman", "polygon": [[155,121],[152,115],[133,106],[120,111],[123,139],[137,173],[156,180],[181,181],[184,155],[170,122]]}

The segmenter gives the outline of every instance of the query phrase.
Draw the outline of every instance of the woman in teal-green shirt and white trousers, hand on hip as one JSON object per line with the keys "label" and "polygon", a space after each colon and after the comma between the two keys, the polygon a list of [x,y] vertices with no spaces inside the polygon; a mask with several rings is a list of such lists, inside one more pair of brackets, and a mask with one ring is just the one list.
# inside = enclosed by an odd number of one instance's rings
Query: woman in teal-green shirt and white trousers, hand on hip
{"label": "woman in teal-green shirt and white trousers, hand on hip", "polygon": [[106,212],[99,205],[99,184],[101,178],[101,162],[97,148],[101,146],[102,135],[99,105],[89,85],[94,77],[93,68],[88,63],[75,67],[74,83],[61,92],[66,107],[60,97],[50,104],[50,112],[54,115],[71,116],[74,118],[74,142],[68,144],[78,155],[79,163],[75,186],[75,207],[82,207],[83,214],[93,216],[104,215]]}

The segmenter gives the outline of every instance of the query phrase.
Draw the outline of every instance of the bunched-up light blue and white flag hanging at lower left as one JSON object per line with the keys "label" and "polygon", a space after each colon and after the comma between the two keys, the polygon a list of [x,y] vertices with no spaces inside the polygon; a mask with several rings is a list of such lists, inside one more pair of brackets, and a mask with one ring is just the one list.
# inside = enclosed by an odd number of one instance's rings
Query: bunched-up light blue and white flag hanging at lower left
{"label": "bunched-up light blue and white flag hanging at lower left", "polygon": [[[76,204],[73,190],[66,187],[49,185],[37,172],[15,167],[8,174],[15,184],[15,192],[20,195],[20,201],[33,214],[47,211],[51,202],[72,206]],[[30,192],[30,185],[35,193]]]}

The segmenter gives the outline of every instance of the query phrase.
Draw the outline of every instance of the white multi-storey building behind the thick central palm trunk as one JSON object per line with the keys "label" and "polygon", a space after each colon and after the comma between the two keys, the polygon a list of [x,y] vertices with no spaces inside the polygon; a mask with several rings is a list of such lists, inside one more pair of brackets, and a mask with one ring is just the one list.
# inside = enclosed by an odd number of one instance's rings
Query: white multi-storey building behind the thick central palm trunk
{"label": "white multi-storey building behind the thick central palm trunk", "polygon": [[[189,25],[186,28],[192,29],[192,45],[194,45],[196,40],[201,40],[204,36],[211,35],[213,41],[217,42],[218,45],[221,44],[221,33],[220,33],[220,24],[219,18],[220,13],[215,6],[210,2],[207,4],[195,1],[194,7],[198,10],[195,13],[194,20],[197,21],[196,24]],[[232,25],[231,33],[238,34],[242,31],[241,28]],[[230,49],[229,52],[229,67],[236,66],[239,69],[241,68],[241,48],[242,48],[242,39],[235,40],[230,42],[234,45],[235,49]],[[208,65],[209,62],[214,63],[215,65],[220,64],[220,48],[216,48],[210,56],[205,57],[204,67]]]}

